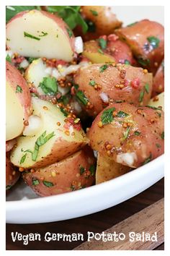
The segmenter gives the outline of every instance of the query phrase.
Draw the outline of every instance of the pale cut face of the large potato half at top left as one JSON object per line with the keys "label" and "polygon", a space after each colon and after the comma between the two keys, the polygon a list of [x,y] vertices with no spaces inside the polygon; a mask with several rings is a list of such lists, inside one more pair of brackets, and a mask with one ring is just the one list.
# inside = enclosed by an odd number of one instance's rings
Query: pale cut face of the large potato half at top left
{"label": "pale cut face of the large potato half at top left", "polygon": [[[24,32],[40,40],[24,37]],[[44,35],[43,33],[48,33]],[[42,36],[40,36],[42,35]],[[43,36],[44,35],[44,36]],[[6,29],[6,45],[21,56],[45,57],[71,61],[71,43],[61,27],[41,12],[30,11],[9,22]]]}

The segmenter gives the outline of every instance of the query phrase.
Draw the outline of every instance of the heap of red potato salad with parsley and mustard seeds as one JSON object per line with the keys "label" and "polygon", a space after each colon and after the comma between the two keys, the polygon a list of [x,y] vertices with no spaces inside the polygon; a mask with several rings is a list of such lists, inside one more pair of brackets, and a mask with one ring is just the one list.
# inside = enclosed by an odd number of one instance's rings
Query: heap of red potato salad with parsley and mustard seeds
{"label": "heap of red potato salad with parsley and mustard seeds", "polygon": [[164,27],[112,9],[6,7],[8,192],[84,189],[164,153]]}

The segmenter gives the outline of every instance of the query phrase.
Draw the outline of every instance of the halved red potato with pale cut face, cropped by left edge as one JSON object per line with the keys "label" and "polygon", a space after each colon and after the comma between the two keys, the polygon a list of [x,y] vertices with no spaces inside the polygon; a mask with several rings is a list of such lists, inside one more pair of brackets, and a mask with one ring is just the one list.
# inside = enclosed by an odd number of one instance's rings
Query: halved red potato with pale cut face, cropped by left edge
{"label": "halved red potato with pale cut face, cropped by left edge", "polygon": [[27,82],[16,67],[6,61],[6,140],[22,134],[32,113]]}

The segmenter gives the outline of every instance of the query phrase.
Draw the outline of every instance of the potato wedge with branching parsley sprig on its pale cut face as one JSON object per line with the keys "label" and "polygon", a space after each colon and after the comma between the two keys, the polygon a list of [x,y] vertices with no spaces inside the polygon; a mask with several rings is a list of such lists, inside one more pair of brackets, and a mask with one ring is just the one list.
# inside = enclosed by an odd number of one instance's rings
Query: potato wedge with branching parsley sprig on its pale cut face
{"label": "potato wedge with branching parsley sprig on its pale cut face", "polygon": [[57,106],[32,98],[33,115],[40,116],[41,127],[35,136],[17,138],[11,162],[23,168],[39,168],[57,161],[83,148],[87,140],[80,124],[67,118]]}

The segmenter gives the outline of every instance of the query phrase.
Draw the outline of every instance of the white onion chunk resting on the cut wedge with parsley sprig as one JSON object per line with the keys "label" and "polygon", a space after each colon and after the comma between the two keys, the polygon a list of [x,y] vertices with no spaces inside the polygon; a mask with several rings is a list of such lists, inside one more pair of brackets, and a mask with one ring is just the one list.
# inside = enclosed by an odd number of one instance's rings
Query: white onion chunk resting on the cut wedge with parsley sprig
{"label": "white onion chunk resting on the cut wedge with parsley sprig", "polygon": [[29,124],[24,127],[23,135],[25,136],[34,136],[40,130],[42,126],[42,119],[40,116],[29,116],[28,118]]}

